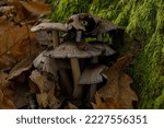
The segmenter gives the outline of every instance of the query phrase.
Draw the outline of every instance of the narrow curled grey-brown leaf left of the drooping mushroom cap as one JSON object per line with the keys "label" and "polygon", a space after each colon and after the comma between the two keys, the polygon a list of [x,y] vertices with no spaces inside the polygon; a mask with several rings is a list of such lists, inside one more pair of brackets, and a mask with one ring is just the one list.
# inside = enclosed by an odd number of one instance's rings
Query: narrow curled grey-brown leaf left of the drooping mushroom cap
{"label": "narrow curled grey-brown leaf left of the drooping mushroom cap", "polygon": [[24,71],[27,71],[33,66],[33,57],[22,59],[14,68],[9,72],[8,80],[13,80],[21,75]]}

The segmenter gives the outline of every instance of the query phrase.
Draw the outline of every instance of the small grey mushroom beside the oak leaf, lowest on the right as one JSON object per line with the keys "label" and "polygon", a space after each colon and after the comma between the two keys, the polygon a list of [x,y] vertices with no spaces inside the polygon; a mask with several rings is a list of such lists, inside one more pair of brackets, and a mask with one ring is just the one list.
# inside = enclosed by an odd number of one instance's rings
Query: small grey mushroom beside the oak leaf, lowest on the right
{"label": "small grey mushroom beside the oak leaf, lowest on the right", "polygon": [[94,65],[87,67],[80,78],[79,84],[89,84],[90,86],[90,95],[89,101],[93,102],[94,95],[97,90],[97,83],[103,82],[103,75],[101,72],[106,68],[106,66],[103,65]]}

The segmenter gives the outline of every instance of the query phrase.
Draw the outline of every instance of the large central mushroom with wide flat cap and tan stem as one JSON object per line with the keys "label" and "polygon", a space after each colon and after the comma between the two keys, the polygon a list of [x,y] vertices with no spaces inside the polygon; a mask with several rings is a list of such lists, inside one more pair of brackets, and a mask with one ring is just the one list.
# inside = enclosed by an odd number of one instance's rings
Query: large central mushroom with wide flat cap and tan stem
{"label": "large central mushroom with wide flat cap and tan stem", "polygon": [[79,58],[92,58],[97,57],[102,54],[102,50],[96,49],[94,47],[89,47],[89,49],[82,50],[79,49],[78,45],[74,43],[63,43],[51,51],[46,53],[46,56],[50,56],[52,58],[70,58],[73,81],[74,81],[74,90],[73,96],[80,98],[82,95],[82,86],[79,85],[79,80],[81,77],[81,70],[79,66]]}

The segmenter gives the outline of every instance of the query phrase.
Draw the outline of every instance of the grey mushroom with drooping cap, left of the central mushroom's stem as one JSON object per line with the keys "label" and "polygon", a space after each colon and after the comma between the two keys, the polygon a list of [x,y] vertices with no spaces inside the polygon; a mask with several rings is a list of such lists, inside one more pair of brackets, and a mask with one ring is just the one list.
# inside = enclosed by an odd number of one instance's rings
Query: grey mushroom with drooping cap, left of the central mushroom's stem
{"label": "grey mushroom with drooping cap, left of the central mushroom's stem", "polygon": [[71,95],[72,86],[68,77],[68,72],[66,71],[66,69],[69,69],[70,66],[65,60],[54,59],[44,56],[46,50],[40,53],[35,58],[35,60],[33,61],[34,67],[37,68],[39,71],[45,71],[54,74],[56,81],[58,80],[57,71],[59,71],[59,75],[61,77],[61,81],[62,81],[61,89],[62,91],[66,92],[67,96]]}

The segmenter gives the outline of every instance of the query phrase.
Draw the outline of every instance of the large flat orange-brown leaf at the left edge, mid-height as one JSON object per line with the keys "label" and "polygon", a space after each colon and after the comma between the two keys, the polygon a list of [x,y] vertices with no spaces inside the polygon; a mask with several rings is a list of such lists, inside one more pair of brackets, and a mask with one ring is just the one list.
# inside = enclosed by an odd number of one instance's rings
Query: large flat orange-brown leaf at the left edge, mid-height
{"label": "large flat orange-brown leaf at the left edge, mid-height", "polygon": [[[0,24],[0,68],[13,66],[10,58],[20,61],[24,57],[35,55],[40,50],[37,47],[35,34],[26,25],[15,26],[9,22]],[[5,56],[9,57],[9,61]]]}

